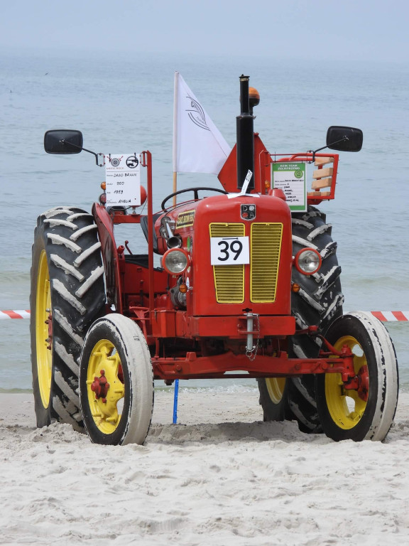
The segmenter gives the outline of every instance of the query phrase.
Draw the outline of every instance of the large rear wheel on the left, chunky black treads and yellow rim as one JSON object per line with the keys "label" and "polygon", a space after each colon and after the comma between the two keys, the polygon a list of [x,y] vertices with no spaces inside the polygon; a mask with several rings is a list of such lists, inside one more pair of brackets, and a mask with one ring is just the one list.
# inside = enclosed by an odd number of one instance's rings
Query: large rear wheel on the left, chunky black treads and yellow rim
{"label": "large rear wheel on the left, chunky black treads and yellow rim", "polygon": [[38,427],[58,420],[82,430],[78,363],[87,328],[105,303],[100,246],[92,215],[80,208],[56,207],[38,217],[30,296]]}

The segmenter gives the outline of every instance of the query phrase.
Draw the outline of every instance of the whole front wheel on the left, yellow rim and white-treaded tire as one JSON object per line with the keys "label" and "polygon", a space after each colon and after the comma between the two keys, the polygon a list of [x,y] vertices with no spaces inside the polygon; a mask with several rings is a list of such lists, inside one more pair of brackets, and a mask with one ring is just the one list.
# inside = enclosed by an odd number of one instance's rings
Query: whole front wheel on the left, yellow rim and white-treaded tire
{"label": "whole front wheel on the left, yellow rim and white-treaded tire", "polygon": [[80,401],[95,444],[143,444],[153,412],[151,355],[141,328],[126,316],[94,322],[81,355]]}

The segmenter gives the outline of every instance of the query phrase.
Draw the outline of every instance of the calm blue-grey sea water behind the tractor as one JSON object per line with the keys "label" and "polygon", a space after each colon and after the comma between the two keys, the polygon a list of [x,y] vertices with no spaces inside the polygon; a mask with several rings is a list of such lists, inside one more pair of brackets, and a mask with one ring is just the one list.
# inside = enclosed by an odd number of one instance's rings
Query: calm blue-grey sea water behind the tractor
{"label": "calm blue-grey sea water behind the tractor", "polygon": [[[329,125],[360,127],[359,154],[339,154],[335,200],[323,203],[342,266],[344,310],[407,311],[409,68],[274,58],[140,57],[132,52],[69,58],[0,54],[0,310],[28,309],[31,245],[38,215],[56,205],[91,209],[104,170],[94,157],[45,154],[48,129],[80,129],[87,149],[150,150],[153,208],[172,190],[173,73],[179,70],[233,146],[239,75],[261,102],[255,130],[271,153],[325,145]],[[220,187],[216,176],[180,174],[178,189]],[[143,252],[135,230],[119,228]],[[138,228],[136,228],[137,230]],[[27,320],[0,321],[0,390],[31,388]],[[387,323],[409,390],[409,323]],[[162,382],[158,382],[158,385]],[[242,390],[254,380],[183,381],[182,386]]]}

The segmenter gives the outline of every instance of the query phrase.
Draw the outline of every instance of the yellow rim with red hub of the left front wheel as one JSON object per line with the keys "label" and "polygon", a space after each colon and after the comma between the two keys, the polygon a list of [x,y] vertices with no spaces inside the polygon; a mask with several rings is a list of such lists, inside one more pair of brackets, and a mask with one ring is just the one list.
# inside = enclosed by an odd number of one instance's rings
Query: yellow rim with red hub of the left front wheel
{"label": "yellow rim with red hub of the left front wheel", "polygon": [[[91,386],[102,372],[109,388],[107,396],[97,397]],[[92,349],[87,369],[88,405],[92,418],[103,434],[112,434],[121,421],[121,410],[124,402],[125,387],[119,379],[122,374],[121,359],[111,341],[101,339]]]}

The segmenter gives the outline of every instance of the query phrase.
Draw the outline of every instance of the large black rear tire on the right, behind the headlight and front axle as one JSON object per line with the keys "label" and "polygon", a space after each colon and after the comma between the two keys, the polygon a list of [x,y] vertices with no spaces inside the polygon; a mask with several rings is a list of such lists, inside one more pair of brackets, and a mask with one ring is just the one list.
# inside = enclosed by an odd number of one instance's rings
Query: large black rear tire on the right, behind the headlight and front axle
{"label": "large black rear tire on the right, behind the headlight and front axle", "polygon": [[[325,222],[325,214],[315,207],[306,213],[293,213],[293,256],[302,248],[312,247],[320,252],[320,271],[307,277],[293,266],[292,280],[300,285],[298,293],[291,294],[291,311],[298,329],[317,325],[324,334],[329,324],[342,316],[344,296],[341,291],[337,261],[337,243],[332,240],[332,226]],[[318,343],[317,343],[318,341]],[[320,351],[320,340],[310,336],[293,336],[290,339],[291,358],[315,358]],[[315,378],[302,375],[287,378],[283,388],[283,400],[276,402],[268,393],[267,379],[258,380],[260,404],[265,421],[296,420],[302,432],[322,432],[315,401]]]}

